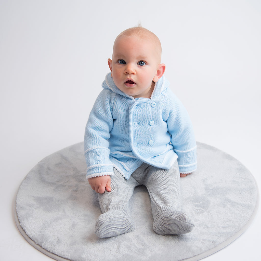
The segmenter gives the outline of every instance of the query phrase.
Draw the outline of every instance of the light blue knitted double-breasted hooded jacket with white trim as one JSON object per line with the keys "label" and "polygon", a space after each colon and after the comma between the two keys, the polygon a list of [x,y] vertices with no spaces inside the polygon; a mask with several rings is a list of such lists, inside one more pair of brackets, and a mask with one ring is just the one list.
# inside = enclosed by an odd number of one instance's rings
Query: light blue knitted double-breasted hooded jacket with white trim
{"label": "light blue knitted double-breasted hooded jacket with white trim", "polygon": [[150,99],[133,98],[106,75],[85,128],[86,178],[113,175],[115,167],[129,179],[143,162],[169,169],[176,159],[180,173],[197,168],[191,121],[168,86],[162,76]]}

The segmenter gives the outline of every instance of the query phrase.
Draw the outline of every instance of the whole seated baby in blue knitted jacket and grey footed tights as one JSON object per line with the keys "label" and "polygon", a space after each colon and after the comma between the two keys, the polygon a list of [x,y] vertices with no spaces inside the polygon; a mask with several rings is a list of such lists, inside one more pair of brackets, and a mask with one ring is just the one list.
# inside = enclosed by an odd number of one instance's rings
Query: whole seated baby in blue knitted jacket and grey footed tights
{"label": "whole seated baby in blue knitted jacket and grey footed tights", "polygon": [[87,176],[98,193],[100,238],[133,230],[129,199],[145,185],[153,229],[159,235],[191,232],[181,211],[180,177],[197,168],[187,111],[169,88],[158,37],[143,27],[120,33],[85,129]]}

